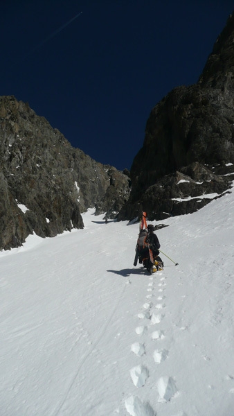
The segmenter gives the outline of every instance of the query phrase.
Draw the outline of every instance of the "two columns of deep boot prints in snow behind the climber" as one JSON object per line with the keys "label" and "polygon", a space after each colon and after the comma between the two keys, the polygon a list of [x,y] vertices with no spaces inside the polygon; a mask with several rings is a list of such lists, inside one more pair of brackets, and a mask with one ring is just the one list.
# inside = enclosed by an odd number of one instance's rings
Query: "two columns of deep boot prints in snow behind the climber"
{"label": "two columns of deep boot prints in snow behind the climber", "polygon": [[[156,277],[163,275],[162,272],[157,272]],[[152,302],[153,291],[154,291],[154,277],[150,277],[150,282],[147,288],[146,299],[147,302],[143,304],[143,310],[138,313],[138,318],[143,320],[143,324],[139,327],[136,327],[136,334],[140,337],[140,342],[132,344],[132,352],[136,354],[140,359],[140,363],[135,367],[132,367],[130,370],[130,376],[132,383],[136,388],[143,388],[145,383],[150,382],[150,370],[147,365],[143,363],[147,357],[147,344],[150,346],[150,343],[159,344],[159,349],[155,349],[153,353],[154,363],[160,365],[162,361],[165,361],[168,357],[169,352],[166,349],[162,348],[161,343],[163,338],[165,338],[164,332],[161,329],[155,329],[156,325],[161,324],[161,321],[164,318],[164,314],[161,313],[161,310],[165,307],[163,300],[165,295],[165,277],[161,277],[159,281],[159,296],[157,301],[159,303]],[[154,331],[151,331],[154,329]],[[151,340],[148,340],[150,335]],[[145,340],[145,343],[143,342]],[[147,360],[148,361],[148,360]],[[158,392],[158,402],[168,402],[172,397],[178,395],[177,387],[174,383],[174,379],[170,376],[161,376],[156,383],[156,388]],[[141,399],[135,395],[132,395],[125,399],[125,409],[127,413],[131,416],[156,416],[156,411],[152,408],[149,401],[141,401]]]}

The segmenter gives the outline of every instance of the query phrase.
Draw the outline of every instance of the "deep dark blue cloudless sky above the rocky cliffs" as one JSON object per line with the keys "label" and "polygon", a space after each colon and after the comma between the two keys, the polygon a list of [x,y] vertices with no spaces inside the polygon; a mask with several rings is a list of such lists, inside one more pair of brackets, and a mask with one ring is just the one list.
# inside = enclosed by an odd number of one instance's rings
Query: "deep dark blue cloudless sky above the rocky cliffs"
{"label": "deep dark blue cloudless sky above the rocky cliffs", "polygon": [[233,0],[1,0],[0,95],[28,102],[96,161],[130,168],[152,107],[197,82],[233,9]]}

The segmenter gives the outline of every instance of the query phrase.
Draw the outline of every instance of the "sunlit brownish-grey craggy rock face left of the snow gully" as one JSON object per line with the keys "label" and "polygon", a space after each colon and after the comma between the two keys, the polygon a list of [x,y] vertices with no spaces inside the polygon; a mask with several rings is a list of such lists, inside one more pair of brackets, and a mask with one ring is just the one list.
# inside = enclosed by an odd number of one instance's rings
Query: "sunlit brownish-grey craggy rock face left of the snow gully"
{"label": "sunlit brownish-grey craggy rock face left of the snow gully", "polygon": [[129,196],[126,174],[73,148],[14,96],[0,97],[0,163],[0,249],[33,232],[82,228],[80,213],[89,207],[114,218]]}

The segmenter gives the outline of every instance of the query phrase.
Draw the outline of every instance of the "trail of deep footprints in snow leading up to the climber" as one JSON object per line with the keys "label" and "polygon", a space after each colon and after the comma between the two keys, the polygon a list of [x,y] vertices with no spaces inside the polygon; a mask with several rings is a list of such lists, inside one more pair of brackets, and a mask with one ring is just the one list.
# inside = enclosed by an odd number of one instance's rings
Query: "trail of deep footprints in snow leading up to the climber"
{"label": "trail of deep footprints in snow leading up to the climber", "polygon": [[[152,383],[155,400],[150,404],[149,401],[142,401],[141,397],[144,395],[127,397],[125,409],[132,416],[156,416],[157,404],[167,403],[179,395],[172,375],[160,376],[160,374],[155,380],[155,375],[151,377],[150,374],[152,365],[159,368],[170,356],[170,349],[166,349],[163,345],[169,335],[163,329],[163,320],[166,316],[166,286],[166,278],[161,272],[157,272],[154,277],[150,276],[145,303],[137,314],[139,319],[139,325],[135,328],[137,339],[131,346],[131,351],[136,356],[136,365],[129,369],[130,380],[136,388],[136,393],[143,389],[146,383]],[[147,397],[144,399],[147,400]]]}

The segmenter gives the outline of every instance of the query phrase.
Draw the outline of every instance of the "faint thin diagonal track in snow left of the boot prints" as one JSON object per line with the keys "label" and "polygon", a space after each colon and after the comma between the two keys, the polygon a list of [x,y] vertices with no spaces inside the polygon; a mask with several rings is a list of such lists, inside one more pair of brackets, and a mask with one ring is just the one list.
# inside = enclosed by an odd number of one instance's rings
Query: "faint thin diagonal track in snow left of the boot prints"
{"label": "faint thin diagonal track in snow left of the boot prints", "polygon": [[59,408],[57,408],[57,410],[55,410],[54,416],[57,416],[59,414],[60,410],[62,410],[62,407],[64,406],[64,403],[65,403],[66,399],[69,397],[69,393],[71,392],[71,389],[73,388],[75,380],[78,378],[78,374],[80,373],[80,370],[81,370],[82,366],[84,365],[85,361],[87,361],[87,358],[89,358],[89,356],[92,354],[93,349],[95,349],[97,347],[98,343],[100,343],[100,340],[104,336],[105,331],[107,331],[107,328],[109,327],[109,323],[111,322],[111,319],[114,317],[114,314],[116,313],[118,305],[120,304],[120,300],[123,297],[123,294],[125,293],[125,288],[126,288],[127,284],[129,284],[129,280],[127,280],[127,282],[125,282],[125,284],[123,286],[123,291],[120,292],[120,295],[118,297],[116,305],[114,306],[113,311],[109,315],[109,319],[105,322],[105,325],[103,326],[103,329],[100,332],[100,335],[98,336],[96,342],[93,343],[90,351],[87,352],[87,354],[84,356],[84,358],[82,358],[82,361],[81,361],[80,365],[78,366],[78,370],[75,372],[75,375],[73,376],[71,384],[69,385],[69,388],[67,389],[66,395],[64,396],[64,399],[62,400],[62,403],[60,404]]}

